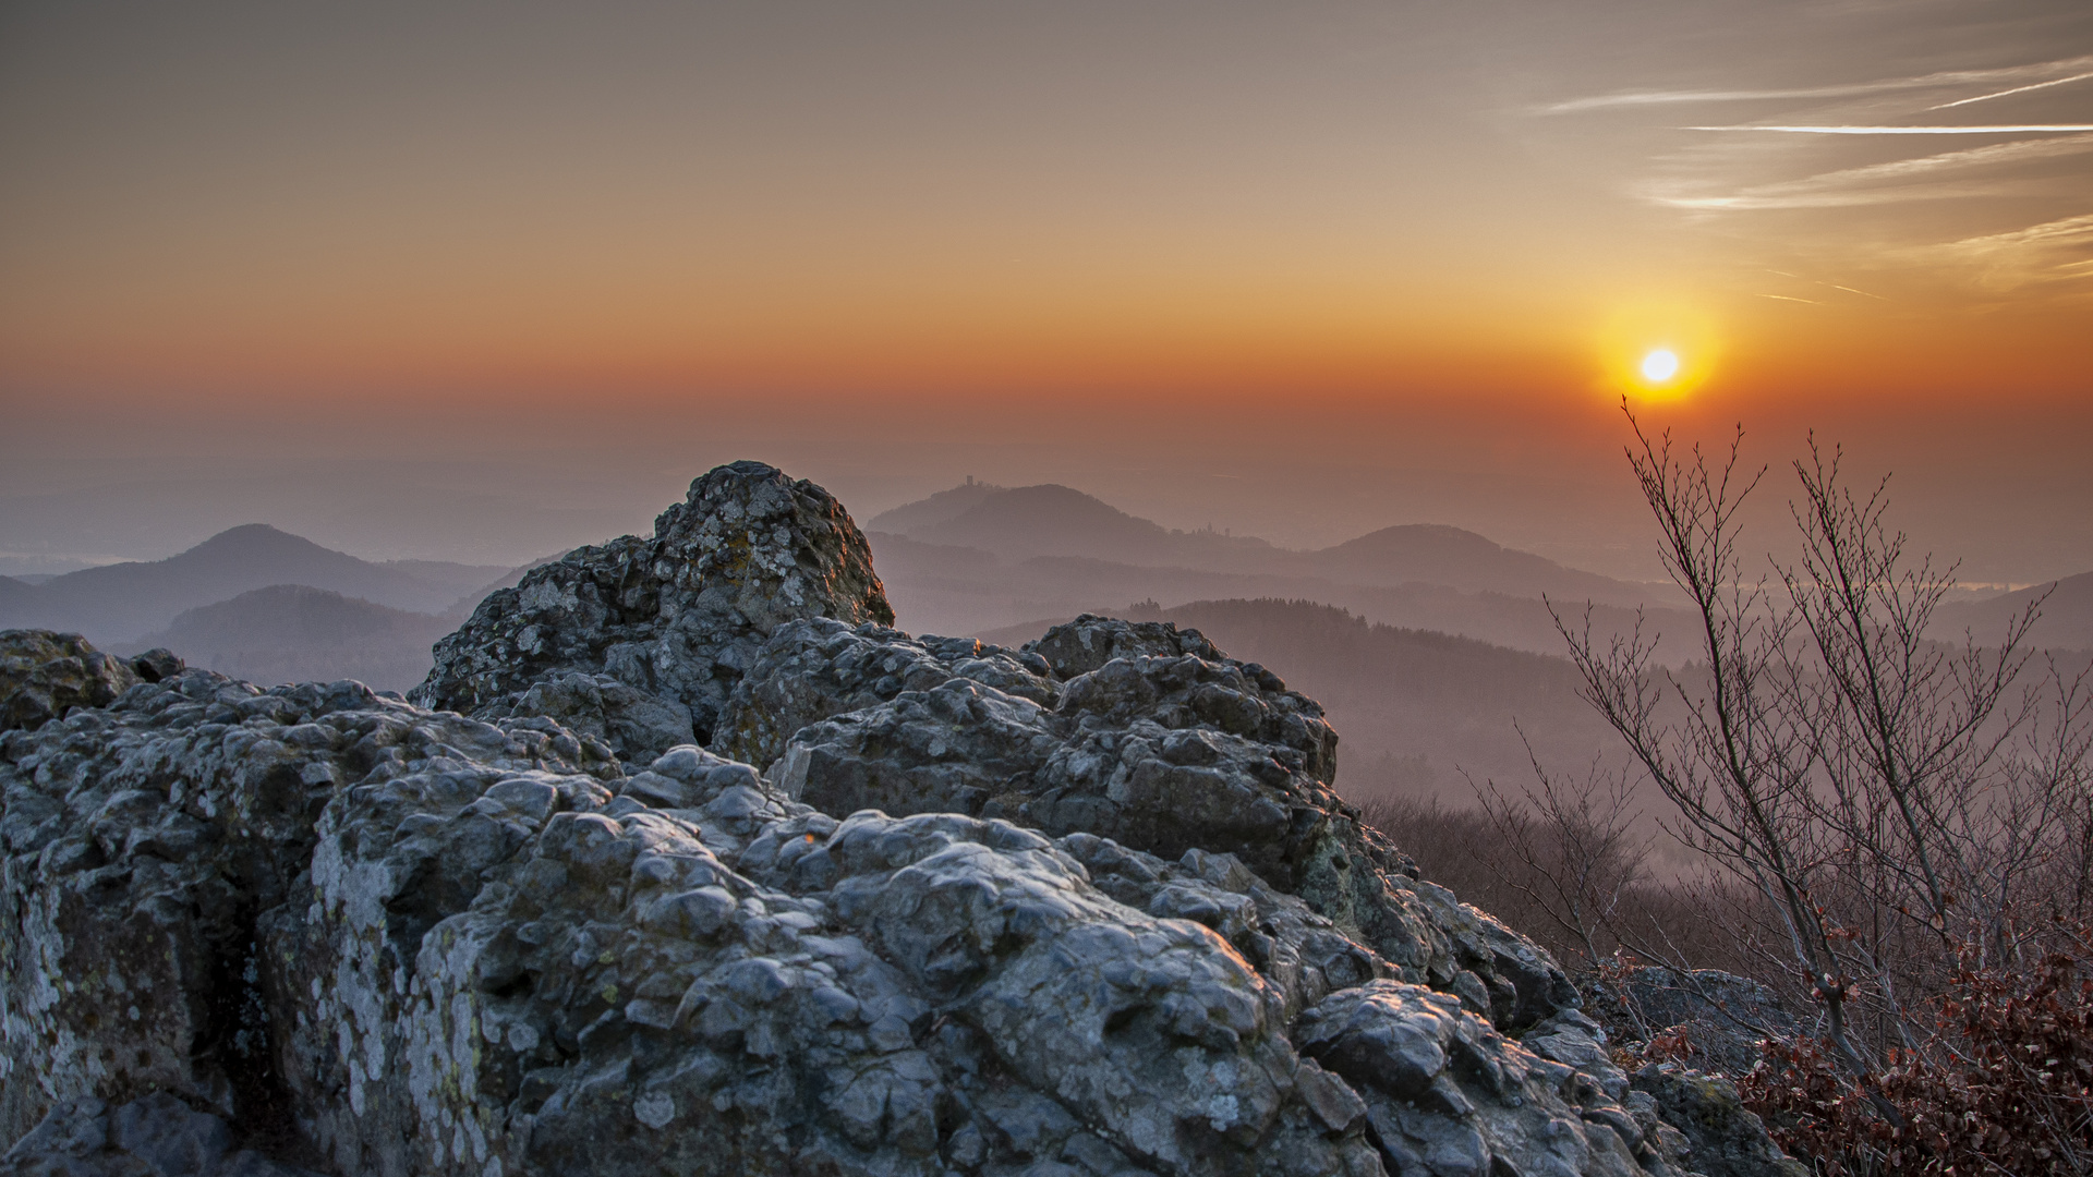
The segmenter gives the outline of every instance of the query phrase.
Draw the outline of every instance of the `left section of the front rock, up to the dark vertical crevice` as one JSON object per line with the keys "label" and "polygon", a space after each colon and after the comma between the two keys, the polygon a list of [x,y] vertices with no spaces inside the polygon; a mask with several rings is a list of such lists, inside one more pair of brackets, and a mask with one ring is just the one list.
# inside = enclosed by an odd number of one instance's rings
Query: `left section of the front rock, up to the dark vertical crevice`
{"label": "left section of the front rock, up to the dark vertical crevice", "polygon": [[404,764],[615,773],[546,720],[502,731],[358,683],[264,693],[203,670],[0,735],[0,1133],[80,1095],[174,1091],[228,1116],[274,1100],[260,1018],[295,1003],[270,1001],[260,921],[310,888],[339,787]]}

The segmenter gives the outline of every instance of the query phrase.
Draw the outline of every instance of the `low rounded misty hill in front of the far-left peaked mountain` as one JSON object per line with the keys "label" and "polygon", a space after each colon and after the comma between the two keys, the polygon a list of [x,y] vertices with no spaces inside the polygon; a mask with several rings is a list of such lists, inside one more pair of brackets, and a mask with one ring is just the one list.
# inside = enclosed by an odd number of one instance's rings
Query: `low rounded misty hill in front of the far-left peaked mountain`
{"label": "low rounded misty hill in front of the far-left peaked mountain", "polygon": [[190,666],[260,687],[356,679],[379,691],[406,691],[429,672],[429,647],[450,628],[446,618],[327,588],[270,584],[188,609],[136,645],[163,645]]}

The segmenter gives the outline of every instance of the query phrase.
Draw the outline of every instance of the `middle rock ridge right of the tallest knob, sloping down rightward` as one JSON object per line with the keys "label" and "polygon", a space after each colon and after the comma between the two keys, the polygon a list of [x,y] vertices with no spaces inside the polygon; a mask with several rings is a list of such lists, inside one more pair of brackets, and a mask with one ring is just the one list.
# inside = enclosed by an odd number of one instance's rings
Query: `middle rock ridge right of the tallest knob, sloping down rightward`
{"label": "middle rock ridge right of the tallest knob, sloping down rightward", "polygon": [[827,813],[969,813],[1166,859],[1233,854],[1505,1028],[1576,1001],[1547,953],[1419,882],[1358,823],[1331,792],[1337,735],[1323,708],[1270,670],[1195,630],[1095,616],[1017,653],[946,660],[936,641],[833,622],[781,630],[737,689],[728,731],[751,733],[739,748],[760,754],[806,716],[856,708],[804,723],[770,777]]}

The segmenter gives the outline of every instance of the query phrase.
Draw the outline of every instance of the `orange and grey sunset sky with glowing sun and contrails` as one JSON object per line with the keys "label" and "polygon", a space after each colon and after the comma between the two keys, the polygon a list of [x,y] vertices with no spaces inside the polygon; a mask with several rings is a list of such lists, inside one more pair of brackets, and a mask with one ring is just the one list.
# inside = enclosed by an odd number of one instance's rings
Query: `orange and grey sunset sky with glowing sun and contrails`
{"label": "orange and grey sunset sky with glowing sun and contrails", "polygon": [[1653,576],[1624,394],[2093,570],[2093,6],[0,6],[8,555],[523,559],[762,457]]}

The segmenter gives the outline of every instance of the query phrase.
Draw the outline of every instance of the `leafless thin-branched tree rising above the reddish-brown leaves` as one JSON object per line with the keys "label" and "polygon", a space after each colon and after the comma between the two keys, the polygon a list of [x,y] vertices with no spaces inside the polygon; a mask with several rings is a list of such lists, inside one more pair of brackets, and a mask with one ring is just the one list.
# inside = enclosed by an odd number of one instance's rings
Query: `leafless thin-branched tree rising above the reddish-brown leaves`
{"label": "leafless thin-branched tree rising above the reddish-brown leaves", "polygon": [[1641,626],[1601,641],[1589,616],[1555,624],[1672,802],[1668,829],[1758,896],[1766,968],[1817,1001],[1865,1081],[1884,1047],[1923,1037],[1921,1003],[1963,945],[2024,951],[2018,913],[2053,898],[2041,882],[2066,865],[2085,901],[2083,681],[2030,683],[2036,605],[1993,645],[1932,641],[1955,568],[1909,559],[1886,484],[1850,492],[1836,448],[1813,440],[1794,465],[1800,559],[1750,576],[1739,509],[1766,471],[1741,467],[1741,429],[1710,459],[1628,423],[1666,572],[1693,601],[1695,664],[1660,666]]}

